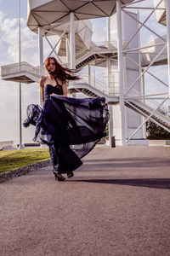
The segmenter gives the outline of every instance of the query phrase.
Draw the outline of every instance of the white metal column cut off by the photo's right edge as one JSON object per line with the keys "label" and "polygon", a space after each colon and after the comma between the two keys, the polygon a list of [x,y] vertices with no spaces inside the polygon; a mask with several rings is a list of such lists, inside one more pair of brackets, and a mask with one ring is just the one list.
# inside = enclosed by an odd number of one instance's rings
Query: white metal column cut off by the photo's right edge
{"label": "white metal column cut off by the photo's right edge", "polygon": [[166,0],[166,18],[167,18],[167,67],[170,97],[170,1]]}

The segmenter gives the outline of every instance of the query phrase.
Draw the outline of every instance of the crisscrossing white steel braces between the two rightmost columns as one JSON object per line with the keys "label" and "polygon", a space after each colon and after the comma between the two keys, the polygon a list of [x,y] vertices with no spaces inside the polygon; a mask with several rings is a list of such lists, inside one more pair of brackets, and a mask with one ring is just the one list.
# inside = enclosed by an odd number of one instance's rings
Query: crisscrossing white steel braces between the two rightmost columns
{"label": "crisscrossing white steel braces between the two rightmost columns", "polygon": [[[160,0],[159,3],[156,4],[156,7],[155,8],[150,8],[150,7],[147,7],[147,6],[144,6],[144,2],[145,1],[135,1],[133,3],[127,3],[127,4],[123,4],[121,6],[121,12],[124,12],[126,15],[128,15],[129,17],[131,17],[133,20],[136,20],[139,24],[136,32],[133,33],[132,37],[127,41],[126,44],[122,45],[122,53],[121,55],[123,56],[124,59],[127,59],[128,61],[131,61],[136,67],[139,67],[139,70],[140,70],[140,73],[139,73],[139,77],[137,79],[135,79],[133,81],[133,83],[130,85],[130,87],[126,90],[125,87],[123,88],[123,92],[120,91],[120,93],[122,93],[123,95],[121,96],[120,95],[120,98],[123,97],[123,102],[124,102],[124,108],[125,108],[125,105],[126,105],[126,102],[128,102],[128,105],[131,105],[132,103],[130,102],[131,100],[133,99],[136,99],[137,101],[141,101],[141,102],[145,102],[145,100],[147,99],[150,99],[150,101],[153,99],[153,97],[157,97],[157,96],[160,96],[161,97],[159,98],[159,100],[162,99],[161,102],[159,102],[156,106],[156,108],[153,109],[153,111],[147,115],[146,113],[142,113],[141,110],[139,109],[136,109],[138,110],[139,113],[141,113],[145,118],[144,118],[144,121],[141,125],[139,125],[139,127],[133,132],[133,134],[130,136],[130,137],[127,137],[126,135],[126,131],[124,131],[124,135],[122,134],[122,136],[125,136],[126,139],[125,139],[125,143],[123,143],[123,140],[122,140],[122,144],[127,144],[129,142],[130,139],[132,139],[134,137],[134,135],[139,131],[139,129],[141,129],[141,127],[143,125],[145,125],[145,123],[150,119],[151,121],[155,122],[156,125],[160,125],[162,128],[164,128],[166,131],[169,131],[170,132],[170,129],[168,129],[167,127],[165,127],[164,125],[161,125],[159,124],[156,119],[153,119],[153,116],[154,114],[156,113],[156,111],[158,111],[162,104],[165,103],[167,101],[167,99],[169,99],[169,95],[168,95],[168,92],[167,93],[162,93],[162,94],[150,94],[150,95],[144,95],[144,94],[141,94],[141,95],[136,95],[135,96],[135,91],[133,90],[133,87],[138,83],[138,82],[141,82],[141,79],[144,79],[144,73],[148,73],[152,78],[156,79],[156,81],[158,81],[161,85],[165,86],[166,88],[169,88],[169,91],[170,91],[170,83],[168,82],[165,83],[164,81],[162,81],[160,78],[158,78],[156,76],[156,74],[153,74],[153,73],[150,73],[149,71],[149,68],[152,67],[154,65],[154,63],[156,62],[156,60],[159,58],[160,55],[162,55],[163,51],[167,48],[167,65],[168,65],[168,81],[169,81],[169,75],[170,75],[170,54],[169,54],[169,43],[170,43],[170,32],[168,32],[168,25],[167,25],[167,40],[166,38],[162,38],[161,35],[159,35],[156,31],[154,31],[153,29],[151,29],[149,26],[146,26],[145,23],[150,20],[150,16],[153,15],[157,9],[162,9],[160,8],[160,4],[162,3],[163,0]],[[133,6],[135,3],[143,3],[143,6]],[[168,22],[170,22],[170,3],[168,3],[169,1],[167,0],[167,6],[166,6],[166,11],[167,11],[167,20],[169,19],[169,21],[167,21],[167,24]],[[148,10],[151,10],[150,14],[147,15],[147,17],[145,18],[145,20],[143,22],[141,22],[138,18],[136,19],[135,17],[133,17],[133,15],[129,14],[129,12],[127,11],[127,9],[136,9],[139,10],[140,9],[148,9]],[[139,15],[138,15],[139,17]],[[117,21],[117,22],[120,22]],[[118,27],[118,26],[117,26]],[[135,49],[126,49],[127,48],[127,45],[133,40],[133,38],[135,36],[138,36],[139,32],[141,31],[141,28],[145,28],[147,29],[149,32],[151,32],[152,34],[154,34],[157,38],[160,38],[161,39],[161,43],[159,44],[154,44],[154,45],[149,45],[149,46],[139,46],[138,48],[135,48]],[[119,42],[120,44],[120,42]],[[142,67],[140,61],[139,63],[136,62],[136,61],[133,61],[132,58],[130,58],[128,56],[128,54],[138,54],[138,55],[141,55],[141,54],[144,54],[144,51],[141,52],[142,49],[146,49],[146,53],[150,53],[149,51],[147,51],[147,49],[151,49],[152,47],[156,47],[156,46],[162,46],[161,50],[154,54],[154,58],[152,61],[150,61],[150,64],[147,66],[147,67]],[[139,56],[140,58],[140,56]],[[119,59],[120,59],[120,54],[119,54]],[[125,68],[124,68],[124,72],[125,72]],[[124,83],[125,84],[125,83]],[[132,93],[132,94],[131,94]],[[133,95],[133,96],[132,96]],[[121,102],[120,102],[121,104]],[[133,106],[133,109],[135,107]],[[123,113],[125,112],[125,110],[122,111]],[[122,116],[122,118],[124,118],[124,114]],[[170,120],[169,120],[170,122]]]}

